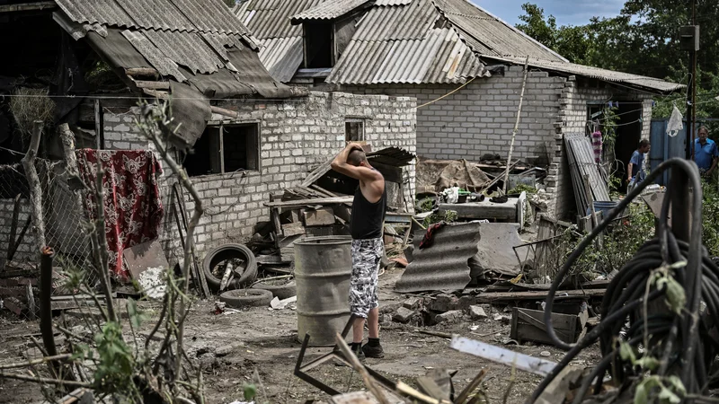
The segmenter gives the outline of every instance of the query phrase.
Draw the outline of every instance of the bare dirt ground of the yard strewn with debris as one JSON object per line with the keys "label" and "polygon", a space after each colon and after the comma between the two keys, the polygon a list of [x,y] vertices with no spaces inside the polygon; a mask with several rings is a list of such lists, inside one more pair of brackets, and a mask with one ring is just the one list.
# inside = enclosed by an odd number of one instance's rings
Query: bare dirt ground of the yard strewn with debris
{"label": "bare dirt ground of the yard strewn with debris", "polygon": [[[393,269],[380,277],[380,304],[401,303],[406,296],[394,292],[395,281],[404,269]],[[214,302],[198,302],[186,322],[185,347],[195,364],[203,366],[208,403],[229,404],[243,400],[244,384],[259,382],[259,401],[270,403],[303,403],[307,400],[327,400],[323,391],[310,386],[293,375],[300,344],[297,342],[297,313],[291,309],[272,311],[253,308],[242,312],[213,314]],[[144,303],[141,308],[158,315],[157,307]],[[502,312],[501,307],[493,310]],[[510,313],[504,313],[510,315]],[[472,326],[478,326],[474,331]],[[147,321],[140,334],[152,327]],[[491,403],[501,403],[510,385],[510,367],[493,364],[481,358],[459,353],[450,347],[446,338],[417,332],[417,327],[398,323],[382,326],[380,337],[385,348],[383,359],[367,359],[369,367],[391,380],[410,385],[418,376],[432,368],[457,370],[454,377],[456,391],[461,391],[477,373],[486,368],[483,388]],[[510,325],[494,321],[493,313],[482,322],[468,318],[455,324],[428,327],[441,332],[475,338],[487,343],[502,345],[509,338]],[[28,335],[37,334],[36,321],[9,321],[0,319],[0,364],[22,362],[22,354],[31,351]],[[36,337],[39,338],[39,337]],[[131,336],[128,336],[131,338]],[[141,337],[138,337],[141,338]],[[143,340],[139,339],[140,342]],[[549,351],[547,359],[559,361],[562,351],[555,347],[513,343],[504,345],[512,350],[540,356]],[[218,349],[219,348],[219,349]],[[306,353],[306,361],[329,352],[330,348],[313,347]],[[219,350],[223,354],[214,353]],[[37,353],[35,353],[37,355]],[[573,364],[591,366],[599,361],[599,349],[586,349]],[[255,375],[259,375],[258,377]],[[363,388],[358,374],[350,368],[333,363],[316,368],[315,377],[338,391],[357,391]],[[523,403],[541,378],[518,371],[510,391],[508,403]],[[0,404],[40,402],[40,388],[28,382],[0,380]]]}

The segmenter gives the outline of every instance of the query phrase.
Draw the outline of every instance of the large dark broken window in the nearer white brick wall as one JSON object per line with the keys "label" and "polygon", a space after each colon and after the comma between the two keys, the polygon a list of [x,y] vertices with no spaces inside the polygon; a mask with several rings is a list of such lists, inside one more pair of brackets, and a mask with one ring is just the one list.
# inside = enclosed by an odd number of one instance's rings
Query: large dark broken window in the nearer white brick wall
{"label": "large dark broken window in the nearer white brick wall", "polygon": [[183,156],[191,177],[260,170],[260,125],[211,126]]}

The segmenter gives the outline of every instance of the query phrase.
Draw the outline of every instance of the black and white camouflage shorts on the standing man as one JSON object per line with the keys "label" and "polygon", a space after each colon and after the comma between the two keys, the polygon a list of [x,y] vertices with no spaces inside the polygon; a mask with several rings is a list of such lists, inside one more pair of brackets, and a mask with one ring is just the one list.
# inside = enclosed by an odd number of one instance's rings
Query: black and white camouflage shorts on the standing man
{"label": "black and white camouflage shorts on the standing man", "polygon": [[379,306],[377,270],[385,250],[382,239],[352,240],[352,276],[350,280],[350,312],[367,318]]}

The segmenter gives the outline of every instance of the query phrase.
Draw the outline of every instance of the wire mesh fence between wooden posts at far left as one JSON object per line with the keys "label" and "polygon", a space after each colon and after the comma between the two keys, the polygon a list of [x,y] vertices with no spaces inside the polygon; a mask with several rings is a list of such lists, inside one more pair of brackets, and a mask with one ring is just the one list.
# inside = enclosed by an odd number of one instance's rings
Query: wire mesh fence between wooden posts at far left
{"label": "wire mesh fence between wooden posts at far left", "polygon": [[[53,248],[56,257],[52,294],[62,302],[60,296],[78,292],[66,287],[67,271],[90,269],[93,265],[88,219],[81,198],[83,186],[70,180],[63,161],[36,159],[35,167],[40,179],[45,243]],[[36,318],[40,296],[40,243],[32,224],[30,196],[22,164],[1,164],[0,307],[20,320]],[[84,273],[88,283],[94,285],[93,271]],[[67,301],[63,308],[67,308]]]}

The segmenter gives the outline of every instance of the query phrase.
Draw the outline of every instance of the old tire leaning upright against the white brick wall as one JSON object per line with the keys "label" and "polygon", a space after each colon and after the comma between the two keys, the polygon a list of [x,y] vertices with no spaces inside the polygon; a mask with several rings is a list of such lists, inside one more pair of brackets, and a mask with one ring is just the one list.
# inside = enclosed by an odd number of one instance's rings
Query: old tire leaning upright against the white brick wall
{"label": "old tire leaning upright against the white brick wall", "polygon": [[[245,285],[250,285],[257,278],[257,260],[254,259],[253,251],[242,244],[222,244],[209,250],[205,259],[202,260],[202,271],[205,272],[208,286],[213,292],[219,290],[219,284],[222,282],[224,274],[223,265],[228,259],[232,259],[235,264],[235,273],[237,268],[242,268],[242,275],[235,276],[235,280],[227,285],[227,290],[238,289]],[[223,272],[223,273],[219,273]]]}

